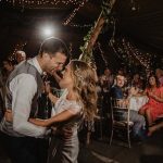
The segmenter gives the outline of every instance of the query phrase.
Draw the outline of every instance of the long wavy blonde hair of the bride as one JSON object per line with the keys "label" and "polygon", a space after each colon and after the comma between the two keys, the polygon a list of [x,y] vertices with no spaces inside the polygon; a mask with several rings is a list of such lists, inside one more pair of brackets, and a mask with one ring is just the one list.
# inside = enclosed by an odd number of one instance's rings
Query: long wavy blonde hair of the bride
{"label": "long wavy blonde hair of the bride", "polygon": [[92,121],[97,114],[96,72],[86,62],[72,60],[71,73],[74,80],[73,90],[77,93],[77,100],[83,103],[84,116]]}

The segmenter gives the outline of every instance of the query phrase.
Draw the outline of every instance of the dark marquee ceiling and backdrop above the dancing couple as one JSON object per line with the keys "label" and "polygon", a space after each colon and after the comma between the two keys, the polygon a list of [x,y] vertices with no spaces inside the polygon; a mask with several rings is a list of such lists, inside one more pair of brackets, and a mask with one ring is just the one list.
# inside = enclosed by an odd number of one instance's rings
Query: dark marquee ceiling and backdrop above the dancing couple
{"label": "dark marquee ceiling and backdrop above the dancing couple", "polygon": [[[17,3],[16,3],[17,2]],[[25,43],[22,48],[28,57],[36,55],[40,42],[45,39],[41,26],[50,24],[57,29],[55,37],[72,45],[73,58],[82,53],[79,47],[84,45],[84,37],[99,17],[102,0],[88,0],[66,26],[63,22],[78,5],[68,3],[51,4],[20,4],[18,1],[0,1],[0,59],[12,55],[16,45]],[[115,24],[115,38],[127,38],[141,51],[154,53],[152,59],[158,65],[163,65],[163,1],[162,0],[116,0],[112,15]],[[73,27],[76,24],[77,27]],[[113,27],[108,27],[99,36],[104,59],[110,67],[118,66],[117,57],[108,46],[112,37]],[[95,52],[97,64],[104,63],[99,51]],[[154,64],[153,63],[153,64]]]}

